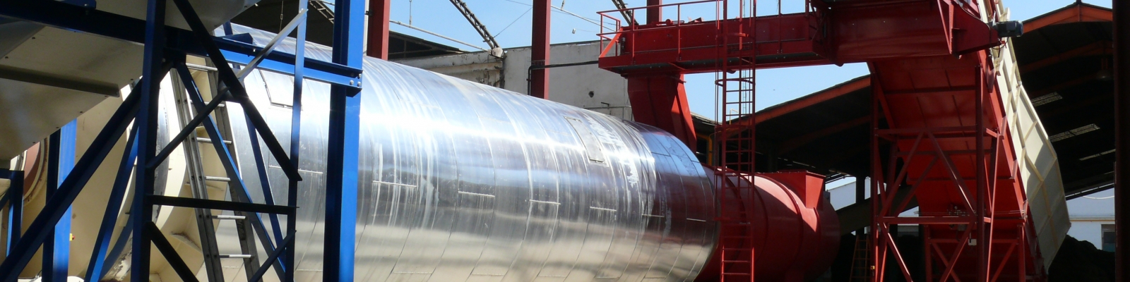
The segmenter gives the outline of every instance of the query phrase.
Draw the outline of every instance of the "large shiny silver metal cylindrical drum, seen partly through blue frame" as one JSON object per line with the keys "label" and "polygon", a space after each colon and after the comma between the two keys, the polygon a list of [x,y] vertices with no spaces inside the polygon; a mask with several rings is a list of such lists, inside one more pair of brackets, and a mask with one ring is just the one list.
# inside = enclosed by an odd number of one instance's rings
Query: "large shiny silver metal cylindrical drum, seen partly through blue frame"
{"label": "large shiny silver metal cylindrical drum, seen partly through blue frame", "polygon": [[[320,46],[307,55],[329,59]],[[372,58],[364,70],[357,281],[690,281],[714,249],[707,171],[667,132]],[[255,71],[245,85],[289,148],[292,78]],[[332,239],[322,237],[328,100],[329,86],[306,83],[298,281],[321,280]],[[261,202],[246,126],[233,127]],[[286,177],[268,174],[285,201]]]}

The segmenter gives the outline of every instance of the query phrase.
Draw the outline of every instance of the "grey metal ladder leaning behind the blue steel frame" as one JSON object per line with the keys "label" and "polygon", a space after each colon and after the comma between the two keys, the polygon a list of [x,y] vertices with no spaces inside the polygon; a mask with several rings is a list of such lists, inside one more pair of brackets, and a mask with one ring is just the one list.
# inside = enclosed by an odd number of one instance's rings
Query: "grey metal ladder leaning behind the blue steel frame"
{"label": "grey metal ladder leaning behind the blue steel frame", "polygon": [[[205,71],[208,73],[208,81],[218,81],[215,68],[188,64],[190,70]],[[174,95],[176,99],[176,112],[177,118],[181,124],[186,124],[189,120],[195,116],[195,111],[191,105],[191,100],[188,97],[188,91],[184,90],[184,83],[181,81],[179,76],[171,76],[174,83],[174,89],[177,89]],[[200,85],[200,83],[197,83]],[[210,86],[216,89],[215,86]],[[212,92],[215,95],[215,92]],[[203,97],[210,99],[212,97]],[[207,102],[206,102],[207,103]],[[216,130],[220,132],[224,140],[223,146],[231,148],[232,146],[232,127],[231,122],[227,116],[227,108],[224,104],[220,104],[216,111],[212,112],[212,120],[216,123]],[[192,197],[209,200],[209,186],[208,183],[220,183],[219,186],[221,191],[227,193],[235,193],[229,183],[232,179],[227,176],[209,176],[206,174],[203,155],[200,151],[200,144],[212,144],[212,140],[208,136],[207,131],[203,126],[197,127],[195,132],[191,136],[184,140],[184,157],[185,165],[188,168],[188,184],[192,190]],[[238,167],[238,164],[233,164]],[[236,195],[231,195],[232,199],[236,199]],[[203,253],[203,264],[205,271],[207,272],[208,281],[223,282],[224,280],[224,266],[221,258],[242,258],[244,272],[250,279],[253,273],[259,270],[259,258],[257,256],[258,249],[255,247],[255,233],[251,222],[247,220],[247,215],[244,212],[235,212],[235,215],[225,214],[214,214],[211,210],[208,209],[194,209],[197,227],[200,231],[200,249]],[[240,248],[242,254],[220,254],[219,244],[216,239],[216,226],[218,220],[234,220],[236,227],[236,233],[240,237]]]}

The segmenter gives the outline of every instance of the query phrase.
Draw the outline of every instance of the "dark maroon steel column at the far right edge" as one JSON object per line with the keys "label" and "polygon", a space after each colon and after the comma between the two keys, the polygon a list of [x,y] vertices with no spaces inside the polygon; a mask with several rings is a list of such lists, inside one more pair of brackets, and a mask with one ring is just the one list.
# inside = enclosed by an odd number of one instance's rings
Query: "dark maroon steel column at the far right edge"
{"label": "dark maroon steel column at the far right edge", "polygon": [[1130,281],[1130,3],[1114,0],[1114,281]]}

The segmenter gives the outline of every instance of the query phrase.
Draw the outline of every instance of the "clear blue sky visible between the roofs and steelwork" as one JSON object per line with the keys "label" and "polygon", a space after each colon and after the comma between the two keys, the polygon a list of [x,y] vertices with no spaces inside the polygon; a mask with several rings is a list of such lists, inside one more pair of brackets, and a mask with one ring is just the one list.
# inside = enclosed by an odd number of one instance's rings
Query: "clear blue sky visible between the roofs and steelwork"
{"label": "clear blue sky visible between the roofs and steelwork", "polygon": [[[487,29],[495,35],[503,47],[530,45],[531,3],[532,0],[464,0],[467,6],[478,16]],[[550,41],[567,43],[597,39],[600,25],[598,11],[615,9],[611,0],[551,0],[555,7],[550,16],[553,26]],[[796,12],[802,9],[803,0],[781,0],[783,12]],[[628,7],[645,6],[645,0],[625,0]],[[669,1],[689,2],[689,1]],[[737,1],[731,1],[737,2]],[[1062,8],[1075,0],[1005,0],[1011,18],[1025,20],[1045,12]],[[1084,2],[1102,7],[1111,7],[1111,0],[1086,0]],[[775,1],[760,1],[758,15],[776,14]],[[567,12],[574,14],[570,15]],[[675,18],[676,11],[667,9],[664,18]],[[393,0],[392,19],[453,37],[459,41],[486,47],[463,16],[451,5],[450,0]],[[583,17],[583,18],[582,18]],[[642,19],[643,15],[637,16]],[[688,5],[681,11],[681,18],[714,18],[713,3]],[[591,21],[590,21],[591,20]],[[392,30],[429,41],[455,46],[462,50],[473,49],[446,41],[407,27],[391,25]],[[550,61],[553,59],[550,58]],[[551,73],[551,72],[550,72]],[[868,73],[866,64],[845,64],[843,67],[820,65],[805,68],[786,68],[757,71],[757,108],[765,108],[783,102],[828,88],[845,80]],[[611,74],[611,73],[610,73]],[[694,74],[687,77],[687,95],[690,109],[705,116],[714,116],[714,74]],[[550,89],[553,95],[553,89]]]}

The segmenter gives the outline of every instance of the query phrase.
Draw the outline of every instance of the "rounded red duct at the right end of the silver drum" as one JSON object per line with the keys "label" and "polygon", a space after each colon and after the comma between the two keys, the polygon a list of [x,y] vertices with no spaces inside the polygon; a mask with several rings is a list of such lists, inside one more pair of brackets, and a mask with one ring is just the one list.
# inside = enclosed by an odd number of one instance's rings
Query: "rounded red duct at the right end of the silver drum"
{"label": "rounded red duct at the right end of the silver drum", "polygon": [[[757,174],[753,178],[754,204],[747,208],[747,217],[754,224],[755,281],[799,282],[824,274],[840,247],[840,220],[824,197],[824,176],[796,170]],[[749,187],[749,177],[729,177],[714,185],[720,193],[741,193],[725,187],[733,187],[737,182]],[[746,196],[750,195],[742,195]],[[714,252],[696,281],[719,281],[721,253]]]}

